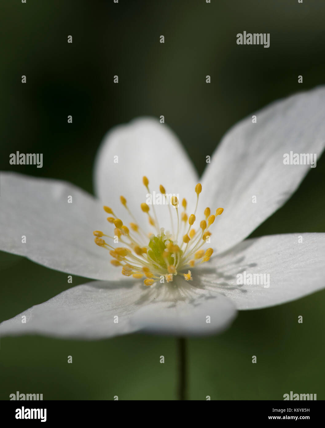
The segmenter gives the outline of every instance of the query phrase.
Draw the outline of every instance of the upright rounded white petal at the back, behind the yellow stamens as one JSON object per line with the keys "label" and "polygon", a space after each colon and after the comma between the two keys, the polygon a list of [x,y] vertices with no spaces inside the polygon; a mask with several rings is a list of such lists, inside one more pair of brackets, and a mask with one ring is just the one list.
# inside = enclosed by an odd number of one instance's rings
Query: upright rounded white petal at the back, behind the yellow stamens
{"label": "upright rounded white petal at the back, behind the yellow stamens", "polygon": [[[114,163],[114,156],[118,156],[118,163]],[[195,196],[195,169],[176,135],[158,119],[140,118],[113,128],[105,136],[95,163],[97,195],[114,208],[117,216],[125,219],[128,216],[119,199],[123,195],[142,226],[148,224],[140,209],[147,194],[142,183],[143,175],[149,179],[151,193],[159,192],[162,184],[166,193],[179,194],[183,198],[191,192]],[[170,229],[167,207],[156,205],[155,208],[160,227]]]}

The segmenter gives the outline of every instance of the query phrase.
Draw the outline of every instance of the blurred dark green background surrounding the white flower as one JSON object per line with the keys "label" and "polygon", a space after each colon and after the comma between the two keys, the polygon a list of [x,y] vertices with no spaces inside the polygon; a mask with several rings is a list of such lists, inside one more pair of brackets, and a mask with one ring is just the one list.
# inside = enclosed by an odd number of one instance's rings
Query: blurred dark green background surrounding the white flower
{"label": "blurred dark green background surrounding the white flower", "polygon": [[[324,12],[324,2],[311,0],[3,0],[0,169],[71,181],[92,193],[105,132],[137,116],[164,115],[202,173],[205,156],[239,119],[324,83]],[[270,47],[238,46],[244,30],[270,33]],[[16,150],[43,153],[43,168],[9,165]],[[324,232],[324,171],[323,156],[252,236]],[[0,321],[68,288],[65,273],[6,253],[0,269]],[[74,285],[83,282],[73,277]],[[321,291],[240,312],[224,334],[188,340],[189,398],[281,400],[294,391],[324,399],[324,304]],[[176,399],[173,337],[25,336],[0,346],[3,400],[16,391],[44,399]]]}

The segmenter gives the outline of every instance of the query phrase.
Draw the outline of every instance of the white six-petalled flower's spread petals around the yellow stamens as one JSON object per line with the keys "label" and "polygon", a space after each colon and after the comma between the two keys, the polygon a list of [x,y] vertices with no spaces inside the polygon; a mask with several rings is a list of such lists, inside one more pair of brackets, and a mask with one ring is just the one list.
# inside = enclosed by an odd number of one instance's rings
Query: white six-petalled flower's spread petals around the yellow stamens
{"label": "white six-petalled flower's spread petals around the yellow stamens", "polygon": [[[95,165],[98,199],[62,181],[1,172],[0,250],[71,275],[100,280],[70,288],[4,321],[1,335],[38,333],[100,339],[136,331],[213,334],[228,327],[238,309],[277,305],[323,288],[325,234],[300,234],[302,242],[298,233],[243,240],[284,204],[309,171],[310,165],[284,165],[284,154],[321,155],[324,101],[324,88],[294,95],[254,113],[257,123],[249,116],[225,135],[201,178],[202,193],[193,225],[199,229],[196,224],[205,218],[206,207],[211,213],[224,208],[209,229],[211,244],[205,249],[213,248],[213,256],[199,265],[197,260],[202,258],[194,257],[195,266],[192,262],[190,269],[185,265],[177,268],[178,275],[162,265],[150,265],[147,272],[156,269],[157,278],[149,286],[143,285],[143,279],[122,276],[120,268],[110,263],[108,251],[94,244],[93,231],[113,233],[114,226],[107,222],[102,205],[109,205],[124,225],[135,223],[120,203],[123,195],[138,226],[149,232],[151,226],[141,210],[149,193],[143,187],[143,176],[149,178],[150,191],[158,192],[162,184],[166,193],[179,194],[179,202],[185,197],[187,214],[193,213],[199,180],[167,125],[142,118],[108,133]],[[114,163],[114,156],[118,156],[118,163]],[[67,202],[68,196],[72,196],[72,203]],[[257,203],[252,203],[253,196]],[[176,220],[175,207],[171,209]],[[166,235],[167,231],[172,235],[167,235],[170,245],[176,245],[168,207],[156,205],[155,210],[157,219],[153,213],[152,218],[159,228],[152,232],[158,235],[163,227]],[[179,247],[186,233],[185,223],[180,223],[184,229],[177,241]],[[117,226],[121,231],[121,224]],[[24,244],[22,235],[26,236]],[[127,241],[126,236],[122,238]],[[109,238],[107,242],[121,247]],[[149,238],[143,247],[148,243]],[[173,254],[169,256],[175,257]],[[167,265],[173,261],[169,259]],[[128,269],[124,268],[125,273]],[[237,284],[237,275],[244,272],[269,274],[269,287]],[[164,283],[160,283],[159,273],[164,275]],[[26,323],[21,322],[23,315]]]}

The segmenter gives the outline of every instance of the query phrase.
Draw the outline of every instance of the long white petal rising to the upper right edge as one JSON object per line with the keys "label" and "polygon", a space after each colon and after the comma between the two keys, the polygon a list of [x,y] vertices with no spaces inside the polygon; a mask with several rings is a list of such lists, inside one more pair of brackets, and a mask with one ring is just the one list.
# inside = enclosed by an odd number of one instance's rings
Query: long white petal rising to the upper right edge
{"label": "long white petal rising to the upper right edge", "polygon": [[[284,154],[325,144],[325,88],[277,101],[232,128],[202,177],[199,211],[224,208],[214,223],[218,253],[248,236],[286,202],[310,165],[284,165]],[[256,196],[256,203],[252,203]],[[201,196],[200,196],[201,197]]]}

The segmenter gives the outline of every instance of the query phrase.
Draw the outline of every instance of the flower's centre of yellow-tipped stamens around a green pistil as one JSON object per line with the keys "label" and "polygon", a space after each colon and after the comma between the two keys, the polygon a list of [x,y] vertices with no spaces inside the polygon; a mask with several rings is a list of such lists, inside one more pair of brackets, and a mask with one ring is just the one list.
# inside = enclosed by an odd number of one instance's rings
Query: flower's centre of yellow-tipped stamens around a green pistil
{"label": "flower's centre of yellow-tipped stamens around a green pistil", "polygon": [[[149,180],[143,177],[143,184],[149,193]],[[182,273],[186,281],[192,280],[191,271],[188,268],[194,268],[201,263],[208,262],[213,250],[201,249],[206,243],[210,243],[211,232],[210,226],[214,223],[215,218],[223,213],[223,208],[217,208],[216,214],[211,215],[210,208],[205,208],[205,219],[201,220],[199,228],[194,229],[192,226],[196,222],[196,208],[199,202],[199,194],[202,192],[201,184],[196,184],[196,207],[193,214],[187,215],[187,201],[182,200],[183,211],[179,216],[179,200],[176,196],[168,197],[162,185],[159,187],[164,201],[168,205],[172,232],[165,232],[164,228],[159,228],[158,219],[155,213],[155,207],[152,205],[152,216],[149,214],[150,207],[145,202],[141,204],[141,210],[148,216],[150,226],[155,228],[155,234],[150,232],[148,235],[138,226],[138,223],[129,210],[126,199],[120,196],[121,204],[131,215],[135,223],[129,223],[125,226],[114,211],[103,207],[105,212],[110,214],[107,217],[108,223],[114,224],[114,236],[105,235],[100,230],[94,231],[95,244],[109,251],[113,266],[121,266],[122,274],[133,276],[134,278],[145,278],[144,285],[152,285],[159,280],[160,282],[171,282],[173,276]],[[170,203],[168,200],[170,199]],[[172,207],[171,207],[172,205]],[[177,232],[175,233],[172,210],[176,211]],[[131,232],[132,231],[132,232]],[[113,247],[108,244],[102,237],[105,236],[113,240],[114,243],[122,243],[123,247]],[[148,242],[149,240],[149,242]]]}

